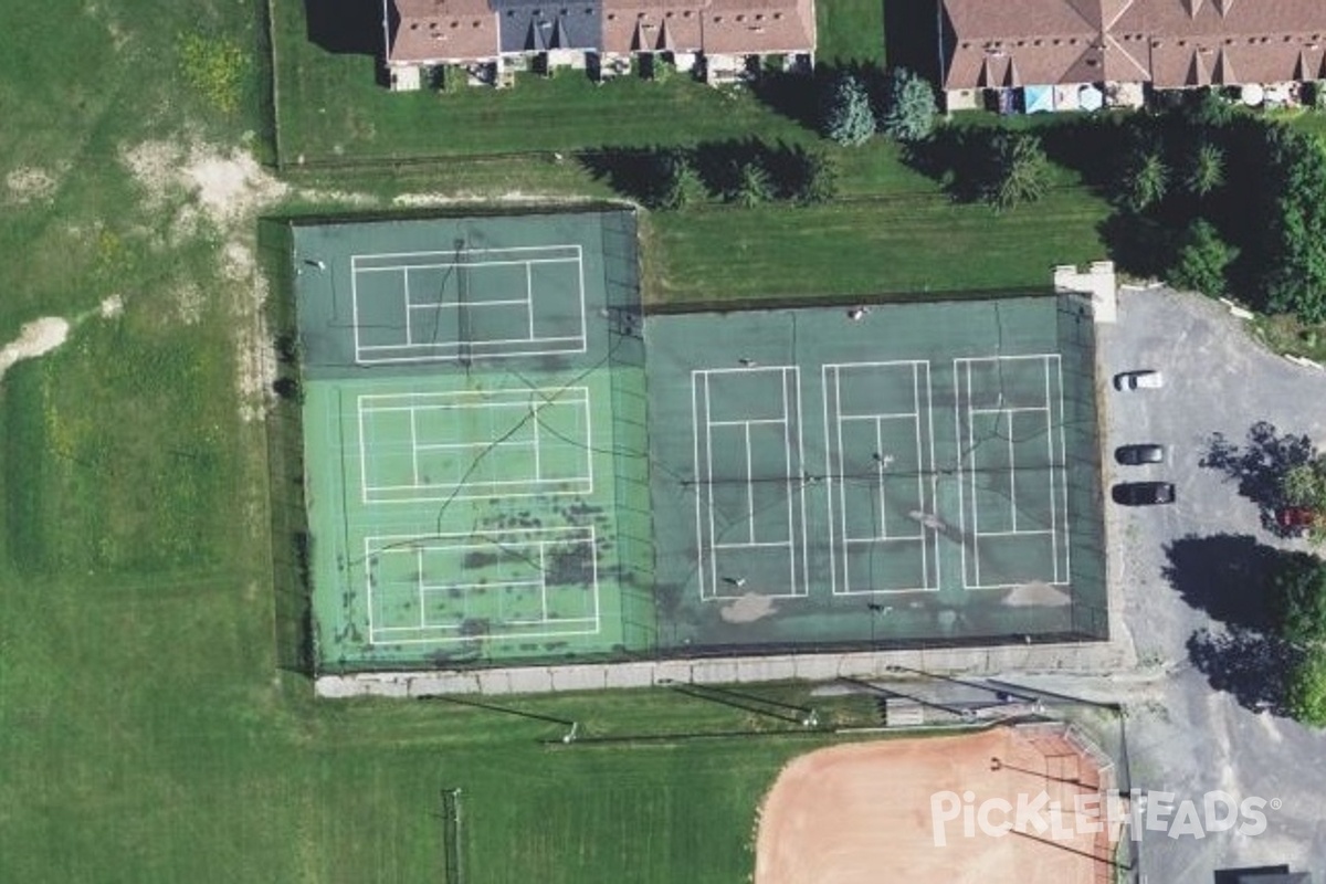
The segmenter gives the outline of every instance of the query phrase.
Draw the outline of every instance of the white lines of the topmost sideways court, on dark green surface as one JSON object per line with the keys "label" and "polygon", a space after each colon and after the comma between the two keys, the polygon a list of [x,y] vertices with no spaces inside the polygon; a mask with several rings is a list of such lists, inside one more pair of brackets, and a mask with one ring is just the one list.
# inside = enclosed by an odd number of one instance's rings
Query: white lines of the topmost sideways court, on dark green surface
{"label": "white lines of the topmost sideways court, on dark green surface", "polygon": [[[456,262],[451,261],[435,261],[430,264],[390,264],[383,266],[359,266],[359,261],[374,261],[382,258],[412,258],[412,257],[455,257],[459,254],[500,254],[500,253],[518,253],[518,252],[558,252],[570,250],[574,254],[557,258],[521,258],[514,261],[476,261],[476,262]],[[579,297],[579,334],[578,335],[550,335],[540,338],[534,335],[534,296],[533,296],[533,265],[534,264],[574,264],[577,270],[577,285]],[[455,268],[484,268],[484,266],[512,266],[512,265],[525,265],[525,297],[512,298],[512,300],[499,300],[499,301],[481,301],[468,305],[450,305],[450,304],[412,304],[410,297],[410,270],[423,270],[423,269],[455,269]],[[359,341],[359,273],[400,273],[404,280],[404,307],[406,307],[406,341],[404,343],[396,345],[365,345]],[[587,338],[587,321],[585,317],[585,254],[583,248],[579,244],[566,243],[557,245],[522,245],[511,248],[497,248],[497,249],[460,249],[447,250],[447,252],[381,252],[381,253],[363,253],[350,256],[350,304],[351,304],[351,317],[354,325],[354,360],[357,364],[381,364],[381,363],[411,363],[411,362],[442,362],[446,359],[455,359],[459,357],[463,342],[432,342],[432,343],[415,343],[411,310],[440,310],[440,309],[456,309],[461,306],[468,309],[484,307],[484,306],[503,306],[503,305],[516,305],[524,304],[526,315],[529,319],[530,334],[528,338],[492,338],[479,342],[467,342],[473,351],[475,345],[479,345],[480,357],[487,358],[503,358],[503,357],[541,357],[541,355],[557,355],[568,353],[585,353],[589,346]],[[509,349],[496,349],[495,345],[556,345],[556,343],[574,343],[574,347],[554,347],[552,350],[537,349],[537,347],[524,347],[524,346],[511,346]],[[410,351],[410,350],[426,350],[424,355],[383,355],[377,358],[370,358],[371,353],[392,353],[392,351]],[[473,355],[473,354],[472,354]]]}

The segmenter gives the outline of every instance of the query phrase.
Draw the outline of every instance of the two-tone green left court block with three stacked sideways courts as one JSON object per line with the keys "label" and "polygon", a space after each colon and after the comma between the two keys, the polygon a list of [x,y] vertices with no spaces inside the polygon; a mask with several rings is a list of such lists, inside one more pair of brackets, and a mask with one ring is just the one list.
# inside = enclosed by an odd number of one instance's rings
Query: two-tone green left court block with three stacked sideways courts
{"label": "two-tone green left court block with three stacked sideways courts", "polygon": [[296,229],[324,669],[652,644],[643,427],[614,417],[640,341],[601,319],[638,310],[634,244],[621,215]]}

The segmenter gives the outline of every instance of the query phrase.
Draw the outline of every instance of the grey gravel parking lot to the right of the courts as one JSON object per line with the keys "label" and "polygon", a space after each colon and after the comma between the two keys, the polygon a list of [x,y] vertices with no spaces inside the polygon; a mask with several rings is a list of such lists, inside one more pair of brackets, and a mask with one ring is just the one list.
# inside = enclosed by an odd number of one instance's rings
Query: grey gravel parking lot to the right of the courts
{"label": "grey gravel parking lot to the right of the courts", "polygon": [[[1163,388],[1113,388],[1114,372],[1136,368],[1163,372]],[[1265,524],[1270,509],[1253,500],[1265,476],[1235,476],[1229,457],[1212,451],[1213,433],[1223,433],[1246,453],[1258,421],[1276,437],[1326,443],[1326,372],[1266,353],[1220,304],[1164,289],[1120,292],[1118,323],[1101,329],[1101,370],[1106,488],[1168,480],[1177,498],[1120,506],[1106,493],[1111,582],[1123,590],[1140,668],[1160,673],[1147,688],[1114,689],[1134,713],[1134,783],[1199,807],[1216,789],[1270,807],[1257,836],[1148,832],[1143,880],[1209,881],[1216,868],[1269,863],[1326,873],[1326,736],[1253,710],[1274,660],[1248,639],[1254,631],[1238,628],[1265,616],[1257,565],[1266,547],[1303,549],[1302,541]],[[1114,464],[1114,448],[1135,443],[1168,447],[1167,463]]]}

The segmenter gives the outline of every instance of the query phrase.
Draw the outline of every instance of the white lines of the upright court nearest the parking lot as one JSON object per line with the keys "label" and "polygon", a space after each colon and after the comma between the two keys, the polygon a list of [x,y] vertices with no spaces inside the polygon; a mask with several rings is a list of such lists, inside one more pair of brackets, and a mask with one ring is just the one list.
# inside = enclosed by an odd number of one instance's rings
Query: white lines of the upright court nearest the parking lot
{"label": "white lines of the upright court nearest the parking lot", "polygon": [[[1018,360],[1026,360],[1026,359],[1038,359],[1038,360],[1041,360],[1041,364],[1045,367],[1045,394],[1044,394],[1045,395],[1045,404],[1044,406],[1018,406],[1018,407],[1013,407],[1013,408],[973,408],[972,407],[972,399],[973,399],[973,396],[972,396],[972,363],[973,362],[996,362],[997,363],[997,362],[1018,362]],[[959,368],[959,363],[964,363],[965,372],[963,372]],[[1053,464],[1054,463],[1054,436],[1055,436],[1055,433],[1054,433],[1053,406],[1052,406],[1052,398],[1050,398],[1052,396],[1052,392],[1050,392],[1050,364],[1052,363],[1054,366],[1057,366],[1057,368],[1058,368],[1058,380],[1059,380],[1059,415],[1061,415],[1061,420],[1059,420],[1059,427],[1058,427],[1058,431],[1059,431],[1058,432],[1058,443],[1059,443],[1058,447],[1059,447],[1059,453],[1061,453],[1061,464],[1057,465],[1057,467],[1052,465],[1049,468],[1050,527],[1049,529],[1032,529],[1032,530],[1018,530],[1017,529],[1017,517],[1016,517],[1016,512],[1017,512],[1017,459],[1016,459],[1014,448],[1013,448],[1013,432],[1012,432],[1013,423],[1012,423],[1012,417],[1009,417],[1009,424],[1008,424],[1009,425],[1009,432],[1008,432],[1009,467],[1008,467],[1008,472],[1009,472],[1009,498],[1010,498],[1010,506],[1013,508],[1013,513],[1014,513],[1014,516],[1013,516],[1013,530],[1006,530],[1006,531],[981,531],[980,530],[980,517],[979,517],[979,514],[976,512],[976,492],[977,492],[977,488],[976,488],[976,476],[977,476],[977,473],[980,470],[977,470],[977,469],[969,469],[968,470],[967,464],[965,464],[965,461],[967,461],[968,457],[975,457],[973,452],[976,451],[976,432],[975,432],[975,421],[972,420],[972,416],[973,415],[987,415],[987,414],[998,414],[998,415],[1006,414],[1006,415],[1013,415],[1013,414],[1020,414],[1020,412],[1044,412],[1045,414],[1045,431],[1046,431],[1046,435],[1049,436],[1048,445],[1050,448],[1050,463]],[[963,396],[963,379],[964,378],[965,378],[965,388],[967,388],[965,398]],[[1018,354],[1018,355],[1009,355],[1009,357],[963,357],[963,358],[955,358],[953,359],[953,388],[955,388],[955,396],[953,396],[953,421],[956,424],[957,447],[959,447],[959,452],[960,452],[959,459],[957,459],[957,488],[959,488],[959,500],[961,501],[959,509],[960,509],[960,518],[961,518],[961,526],[963,526],[963,535],[965,537],[965,535],[968,535],[968,533],[967,533],[967,506],[965,506],[965,501],[963,500],[963,497],[964,497],[964,486],[967,484],[965,482],[965,480],[967,480],[965,473],[969,473],[971,474],[971,494],[972,494],[972,531],[971,531],[969,537],[972,537],[972,539],[973,539],[972,557],[973,557],[973,566],[976,569],[976,571],[975,571],[975,582],[968,583],[968,579],[967,579],[967,545],[963,543],[961,545],[963,588],[964,590],[1006,590],[1006,588],[1012,588],[1012,587],[1016,587],[1016,586],[1021,586],[1021,583],[981,583],[980,582],[980,579],[981,579],[981,554],[980,554],[980,543],[979,543],[979,541],[981,538],[984,538],[984,537],[1033,537],[1033,535],[1038,535],[1038,534],[1040,535],[1049,534],[1050,535],[1050,554],[1052,554],[1052,574],[1050,574],[1049,583],[1050,584],[1063,584],[1063,583],[1066,583],[1067,582],[1067,569],[1065,569],[1065,574],[1062,575],[1062,578],[1061,578],[1061,573],[1059,573],[1058,530],[1057,530],[1058,518],[1059,518],[1059,512],[1058,512],[1059,510],[1059,505],[1058,505],[1058,501],[1055,500],[1055,496],[1054,496],[1054,492],[1055,492],[1054,474],[1055,474],[1055,470],[1058,470],[1058,473],[1061,476],[1061,485],[1059,486],[1063,490],[1063,513],[1062,513],[1062,517],[1063,517],[1063,526],[1065,526],[1065,533],[1066,533],[1066,527],[1067,527],[1067,467],[1066,467],[1066,463],[1063,461],[1063,459],[1066,459],[1066,456],[1067,456],[1067,443],[1066,443],[1066,439],[1065,439],[1063,420],[1062,420],[1062,415],[1063,415],[1063,360],[1062,360],[1061,354],[1057,354],[1057,353],[1034,353],[1034,354]],[[967,445],[968,445],[965,449],[963,448],[963,419],[961,419],[961,411],[960,411],[960,406],[959,406],[960,402],[965,402]],[[963,453],[964,451],[965,451],[965,453]],[[1063,547],[1065,547],[1063,549],[1065,557],[1067,557],[1069,555],[1070,543],[1067,543],[1065,541]]]}

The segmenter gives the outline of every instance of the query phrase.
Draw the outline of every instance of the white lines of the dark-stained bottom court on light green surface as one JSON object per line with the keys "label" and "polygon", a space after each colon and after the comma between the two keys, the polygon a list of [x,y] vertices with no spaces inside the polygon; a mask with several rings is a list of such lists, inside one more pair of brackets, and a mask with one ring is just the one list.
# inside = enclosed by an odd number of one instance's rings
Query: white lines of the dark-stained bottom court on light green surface
{"label": "white lines of the dark-stained bottom court on light green surface", "polygon": [[[554,538],[550,538],[550,539],[533,539],[533,541],[530,541],[530,539],[525,539],[525,541],[500,541],[499,539],[496,542],[488,542],[488,543],[465,543],[465,542],[461,542],[461,543],[422,543],[420,545],[420,541],[442,541],[442,539],[448,539],[448,538],[460,538],[460,539],[464,539],[464,541],[469,541],[469,539],[483,538],[483,537],[501,538],[504,535],[524,537],[524,535],[529,535],[529,534],[566,534],[566,535],[572,535],[572,537],[569,537],[569,538],[568,537],[562,537],[562,538],[556,538],[554,537]],[[548,619],[548,579],[546,579],[548,571],[544,567],[544,561],[545,561],[544,555],[545,555],[545,551],[546,551],[546,549],[549,546],[553,546],[553,545],[557,545],[557,543],[566,543],[568,541],[574,541],[574,542],[579,542],[579,543],[587,545],[587,547],[590,550],[593,616]],[[391,549],[392,546],[402,546],[404,549],[394,550],[394,549]],[[538,555],[538,562],[540,562],[540,569],[538,569],[538,571],[540,571],[540,579],[538,580],[508,580],[508,582],[501,582],[501,583],[436,583],[436,584],[426,584],[423,582],[423,554],[424,554],[426,550],[471,550],[471,549],[473,549],[473,550],[489,550],[491,551],[495,546],[497,549],[503,549],[503,547],[517,547],[517,549],[521,549],[521,550],[526,550],[526,549],[530,549],[530,547],[537,549],[538,550],[537,555]],[[367,591],[367,604],[366,604],[366,608],[367,608],[367,616],[369,616],[369,643],[370,644],[378,644],[379,640],[381,640],[382,644],[436,644],[436,643],[446,643],[446,641],[464,641],[464,640],[468,640],[469,636],[459,636],[459,635],[443,635],[443,636],[428,636],[428,637],[415,637],[415,639],[400,639],[400,637],[395,637],[395,636],[392,636],[390,634],[392,634],[392,632],[420,632],[420,631],[426,631],[426,630],[443,630],[443,631],[453,632],[453,631],[456,631],[456,630],[460,628],[459,626],[455,626],[455,624],[424,623],[423,622],[423,602],[424,602],[426,594],[428,594],[428,592],[448,592],[451,590],[457,590],[457,588],[461,590],[461,591],[468,591],[471,588],[480,588],[480,587],[491,590],[491,588],[499,588],[499,587],[505,587],[505,586],[530,586],[530,587],[532,586],[538,586],[540,587],[540,596],[541,596],[541,602],[542,602],[542,607],[544,607],[544,619],[542,620],[511,620],[509,623],[512,623],[512,624],[516,624],[516,626],[538,626],[538,624],[548,624],[548,623],[566,623],[566,624],[574,626],[574,624],[582,624],[582,623],[593,623],[594,628],[593,630],[554,630],[554,631],[548,631],[548,632],[512,632],[509,635],[493,635],[493,634],[488,634],[488,635],[484,636],[485,639],[504,641],[504,640],[511,640],[511,639],[552,639],[552,637],[573,636],[573,635],[598,635],[599,632],[602,632],[603,623],[602,623],[602,604],[601,604],[599,586],[598,586],[598,558],[595,555],[595,550],[597,549],[598,549],[598,542],[597,542],[597,534],[595,534],[595,530],[594,530],[593,525],[586,525],[586,526],[568,526],[568,527],[517,529],[517,530],[513,530],[513,531],[472,531],[472,533],[448,533],[448,534],[383,534],[383,535],[367,535],[367,537],[363,538],[363,562],[365,562],[365,569],[363,569],[363,575],[365,577],[363,577],[363,579],[365,579],[365,587],[366,587],[366,591]],[[418,562],[419,562],[418,592],[419,592],[419,604],[420,604],[419,618],[420,618],[420,623],[423,623],[423,626],[399,626],[399,627],[398,626],[389,626],[389,627],[374,626],[374,618],[373,618],[374,588],[373,588],[373,567],[371,567],[370,562],[371,562],[373,557],[375,557],[375,555],[382,555],[382,554],[386,554],[386,555],[403,555],[403,554],[407,554],[410,551],[414,551],[414,553],[418,554]]]}

